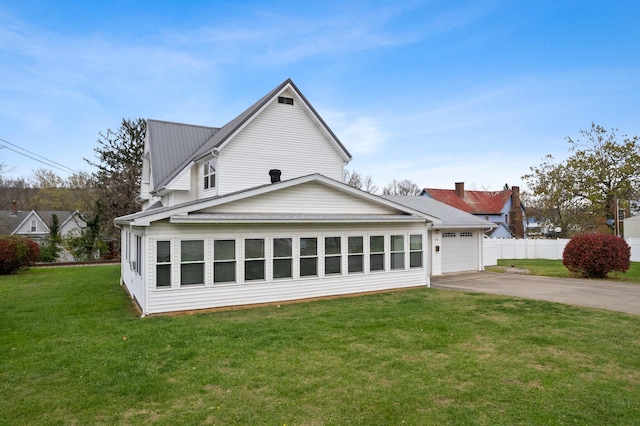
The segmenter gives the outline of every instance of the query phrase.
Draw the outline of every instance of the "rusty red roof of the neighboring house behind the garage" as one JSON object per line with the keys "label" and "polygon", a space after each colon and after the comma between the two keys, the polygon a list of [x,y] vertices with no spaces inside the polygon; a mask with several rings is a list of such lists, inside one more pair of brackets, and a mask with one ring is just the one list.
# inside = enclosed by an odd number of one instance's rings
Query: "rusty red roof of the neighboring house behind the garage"
{"label": "rusty red roof of the neighboring house behind the garage", "polygon": [[464,198],[459,197],[453,189],[425,188],[421,195],[426,195],[456,209],[471,214],[500,214],[505,204],[511,199],[511,190],[503,191],[464,191]]}

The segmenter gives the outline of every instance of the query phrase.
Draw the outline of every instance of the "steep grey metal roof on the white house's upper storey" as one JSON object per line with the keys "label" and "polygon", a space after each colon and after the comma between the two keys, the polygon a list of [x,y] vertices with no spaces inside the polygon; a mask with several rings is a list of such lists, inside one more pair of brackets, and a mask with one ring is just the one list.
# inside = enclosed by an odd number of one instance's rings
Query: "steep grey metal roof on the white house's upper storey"
{"label": "steep grey metal roof on the white house's upper storey", "polygon": [[[147,138],[149,141],[153,138],[153,144],[149,146],[155,186],[155,188],[152,188],[152,191],[166,186],[190,163],[200,161],[212,152],[221,149],[231,137],[248,124],[272,99],[287,88],[290,88],[299,96],[312,118],[317,121],[318,125],[335,142],[345,161],[350,161],[352,157],[349,151],[347,151],[342,142],[340,142],[338,137],[329,126],[327,126],[322,117],[320,117],[318,112],[311,106],[293,81],[288,78],[220,128],[147,120]],[[151,131],[149,127],[150,123],[153,128]],[[160,138],[159,142],[158,138]],[[156,143],[160,144],[159,148],[152,146]]]}

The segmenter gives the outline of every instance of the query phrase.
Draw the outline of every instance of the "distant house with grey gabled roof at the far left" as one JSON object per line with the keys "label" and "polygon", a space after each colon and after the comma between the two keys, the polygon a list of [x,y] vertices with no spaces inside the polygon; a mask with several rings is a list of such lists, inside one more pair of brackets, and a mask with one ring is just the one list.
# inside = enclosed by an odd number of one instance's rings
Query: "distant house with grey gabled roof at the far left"
{"label": "distant house with grey gabled roof at the far left", "polygon": [[[0,210],[0,235],[23,235],[39,245],[47,242],[51,233],[53,216],[58,217],[60,236],[65,237],[86,228],[79,211],[64,210],[18,210],[14,201],[11,210]],[[63,253],[61,260],[73,260]]]}

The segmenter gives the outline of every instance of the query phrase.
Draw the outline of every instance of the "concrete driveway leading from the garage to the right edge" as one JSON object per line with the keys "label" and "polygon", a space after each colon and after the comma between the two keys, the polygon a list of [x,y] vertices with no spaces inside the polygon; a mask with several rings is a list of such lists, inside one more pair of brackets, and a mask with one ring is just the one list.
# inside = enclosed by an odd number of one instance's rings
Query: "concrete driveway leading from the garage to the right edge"
{"label": "concrete driveway leading from the garage to the right edge", "polygon": [[466,272],[431,277],[431,287],[503,294],[640,315],[640,284]]}

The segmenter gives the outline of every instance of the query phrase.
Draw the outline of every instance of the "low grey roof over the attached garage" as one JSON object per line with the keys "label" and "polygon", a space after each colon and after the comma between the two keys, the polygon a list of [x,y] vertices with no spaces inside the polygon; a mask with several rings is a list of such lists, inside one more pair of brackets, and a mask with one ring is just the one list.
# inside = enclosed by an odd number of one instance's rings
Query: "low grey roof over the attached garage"
{"label": "low grey roof over the attached garage", "polygon": [[436,227],[443,228],[474,228],[493,229],[496,225],[484,219],[480,219],[463,210],[451,207],[445,203],[424,196],[408,195],[382,195],[382,197],[395,201],[412,209],[428,213],[440,219],[441,223]]}

